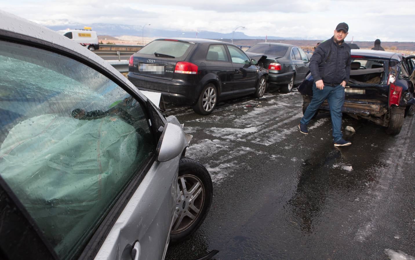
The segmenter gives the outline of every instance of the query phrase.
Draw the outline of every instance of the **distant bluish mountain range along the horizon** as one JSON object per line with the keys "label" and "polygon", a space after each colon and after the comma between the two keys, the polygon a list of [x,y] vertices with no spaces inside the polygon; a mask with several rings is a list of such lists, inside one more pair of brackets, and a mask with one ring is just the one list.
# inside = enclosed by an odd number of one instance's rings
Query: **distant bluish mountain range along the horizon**
{"label": "distant bluish mountain range along the horizon", "polygon": [[[109,36],[121,36],[121,35],[132,35],[132,36],[142,36],[143,26],[141,25],[125,25],[125,24],[79,24],[73,23],[68,20],[48,20],[48,21],[35,21],[39,24],[42,24],[49,29],[54,31],[59,31],[66,28],[71,29],[82,29],[84,26],[90,26],[98,35],[109,35]],[[184,37],[184,38],[196,38],[195,31],[169,31],[169,30],[159,30],[153,29],[151,26],[146,26],[144,28],[145,37]],[[204,39],[232,39],[232,32],[228,34],[222,34],[213,31],[199,31],[197,34],[198,38]],[[264,39],[265,36],[247,36],[241,31],[235,31],[234,39]],[[278,36],[268,36],[269,40],[281,40],[281,39],[302,39],[300,37],[294,38],[284,38]]]}

